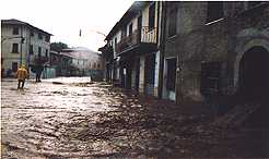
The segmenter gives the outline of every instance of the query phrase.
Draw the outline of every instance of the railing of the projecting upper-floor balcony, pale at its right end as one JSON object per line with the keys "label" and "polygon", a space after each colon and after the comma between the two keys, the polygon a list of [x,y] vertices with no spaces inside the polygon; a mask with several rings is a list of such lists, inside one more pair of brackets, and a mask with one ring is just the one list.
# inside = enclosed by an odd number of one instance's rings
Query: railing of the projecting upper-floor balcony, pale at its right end
{"label": "railing of the projecting upper-floor balcony, pale at its right end", "polygon": [[142,27],[140,30],[136,29],[131,35],[122,37],[115,49],[117,53],[120,53],[138,44],[156,44],[156,28]]}

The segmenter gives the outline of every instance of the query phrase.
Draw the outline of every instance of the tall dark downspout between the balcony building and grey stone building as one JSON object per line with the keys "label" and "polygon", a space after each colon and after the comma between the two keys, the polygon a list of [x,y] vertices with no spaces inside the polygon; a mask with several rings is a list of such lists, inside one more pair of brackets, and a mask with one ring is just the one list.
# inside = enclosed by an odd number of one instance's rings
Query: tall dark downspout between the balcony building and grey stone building
{"label": "tall dark downspout between the balcony building and grey stone building", "polygon": [[161,16],[160,72],[159,72],[157,97],[162,98],[162,94],[163,94],[164,54],[165,54],[165,30],[166,30],[166,21],[165,21],[166,20],[166,2],[165,1],[160,1],[160,2],[162,2],[162,11],[161,11],[162,16]]}

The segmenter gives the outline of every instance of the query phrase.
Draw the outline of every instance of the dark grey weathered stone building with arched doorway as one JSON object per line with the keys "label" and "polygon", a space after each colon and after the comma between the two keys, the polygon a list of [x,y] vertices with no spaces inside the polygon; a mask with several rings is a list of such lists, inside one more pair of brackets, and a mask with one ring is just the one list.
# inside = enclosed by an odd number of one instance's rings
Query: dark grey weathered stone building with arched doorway
{"label": "dark grey weathered stone building with arched doorway", "polygon": [[162,97],[268,96],[268,2],[164,2]]}

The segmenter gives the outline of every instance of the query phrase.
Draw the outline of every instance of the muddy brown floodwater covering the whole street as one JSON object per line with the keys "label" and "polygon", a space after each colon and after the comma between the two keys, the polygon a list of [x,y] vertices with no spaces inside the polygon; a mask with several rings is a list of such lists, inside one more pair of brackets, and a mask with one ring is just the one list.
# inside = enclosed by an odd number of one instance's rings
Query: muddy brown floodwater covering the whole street
{"label": "muddy brown floodwater covering the whole street", "polygon": [[[2,158],[269,157],[268,131],[221,129],[198,106],[86,77],[1,82]],[[191,113],[190,113],[191,112]]]}

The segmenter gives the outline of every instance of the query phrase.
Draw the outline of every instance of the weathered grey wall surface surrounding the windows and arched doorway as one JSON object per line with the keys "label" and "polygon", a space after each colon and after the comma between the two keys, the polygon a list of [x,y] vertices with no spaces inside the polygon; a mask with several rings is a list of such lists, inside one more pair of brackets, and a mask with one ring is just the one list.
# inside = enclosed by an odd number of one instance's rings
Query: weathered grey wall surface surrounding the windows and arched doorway
{"label": "weathered grey wall surface surrounding the windows and arched doorway", "polygon": [[164,51],[164,59],[178,58],[177,101],[203,100],[200,93],[202,61],[221,62],[222,94],[236,90],[242,54],[255,45],[269,46],[268,9],[243,14],[246,8],[245,2],[224,2],[225,19],[206,24],[207,2],[178,3],[177,35],[166,38]]}

